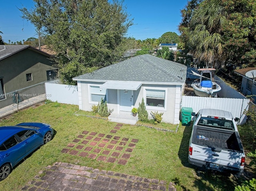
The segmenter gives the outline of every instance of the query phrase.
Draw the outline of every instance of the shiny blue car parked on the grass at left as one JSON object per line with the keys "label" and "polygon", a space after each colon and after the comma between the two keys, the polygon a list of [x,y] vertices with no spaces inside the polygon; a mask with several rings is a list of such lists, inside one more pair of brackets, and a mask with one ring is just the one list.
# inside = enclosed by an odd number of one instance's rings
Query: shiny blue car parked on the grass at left
{"label": "shiny blue car parked on the grass at left", "polygon": [[53,128],[45,123],[20,123],[0,127],[0,181],[23,158],[52,139]]}

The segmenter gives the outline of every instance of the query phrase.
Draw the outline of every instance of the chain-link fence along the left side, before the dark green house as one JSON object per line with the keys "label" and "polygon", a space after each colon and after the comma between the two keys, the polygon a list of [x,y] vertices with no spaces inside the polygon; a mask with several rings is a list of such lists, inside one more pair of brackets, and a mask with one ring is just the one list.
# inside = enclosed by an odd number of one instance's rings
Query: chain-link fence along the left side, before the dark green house
{"label": "chain-link fence along the left side, before the dark green house", "polygon": [[46,99],[44,83],[38,83],[30,87],[18,89],[4,95],[0,95],[0,110],[18,110],[24,106]]}

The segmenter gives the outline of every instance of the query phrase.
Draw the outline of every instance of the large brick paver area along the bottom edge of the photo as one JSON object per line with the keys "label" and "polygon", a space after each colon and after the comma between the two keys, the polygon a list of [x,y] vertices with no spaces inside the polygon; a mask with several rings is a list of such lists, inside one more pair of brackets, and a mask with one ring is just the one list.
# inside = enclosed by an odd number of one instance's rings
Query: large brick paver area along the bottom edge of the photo
{"label": "large brick paver area along the bottom edge of the photo", "polygon": [[176,191],[172,183],[70,163],[54,163],[23,191]]}

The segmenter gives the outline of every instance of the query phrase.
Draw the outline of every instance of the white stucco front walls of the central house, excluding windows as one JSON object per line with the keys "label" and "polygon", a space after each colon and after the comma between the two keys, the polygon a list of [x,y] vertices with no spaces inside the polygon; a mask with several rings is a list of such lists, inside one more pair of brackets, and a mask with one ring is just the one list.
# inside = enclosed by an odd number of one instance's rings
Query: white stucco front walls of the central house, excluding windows
{"label": "white stucco front walls of the central house, excluding windows", "polygon": [[[79,84],[80,83],[80,84]],[[79,108],[86,111],[92,111],[91,107],[94,104],[89,103],[89,93],[88,93],[88,86],[89,85],[101,85],[103,83],[92,83],[92,82],[80,82],[78,81],[78,92],[81,92],[81,101]],[[79,89],[80,87],[80,89]],[[177,124],[179,118],[179,111],[180,111],[180,99],[183,91],[182,85],[142,85],[137,91],[133,91],[134,97],[134,107],[139,106],[139,102],[142,101],[142,98],[146,98],[145,89],[146,88],[163,88],[167,90],[167,99],[166,101],[166,108],[163,110],[156,110],[156,107],[146,106],[146,110],[148,111],[148,116],[151,118],[150,112],[163,112],[162,122],[167,122],[171,124]],[[114,109],[113,113],[119,112],[119,106],[117,99],[118,91],[117,90],[107,90],[107,102],[108,108]]]}

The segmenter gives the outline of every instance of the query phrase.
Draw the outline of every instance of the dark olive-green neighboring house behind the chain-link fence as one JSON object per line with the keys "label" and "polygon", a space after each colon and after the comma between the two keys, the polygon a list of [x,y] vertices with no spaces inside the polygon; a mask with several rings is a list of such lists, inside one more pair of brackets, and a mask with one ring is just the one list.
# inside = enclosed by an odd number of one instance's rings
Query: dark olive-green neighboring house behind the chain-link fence
{"label": "dark olive-green neighboring house behind the chain-link fence", "polygon": [[[51,55],[29,45],[0,45],[0,108],[13,104],[14,91],[56,78]],[[11,94],[9,94],[11,93]],[[45,93],[44,85],[19,98],[19,102]]]}

